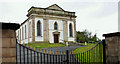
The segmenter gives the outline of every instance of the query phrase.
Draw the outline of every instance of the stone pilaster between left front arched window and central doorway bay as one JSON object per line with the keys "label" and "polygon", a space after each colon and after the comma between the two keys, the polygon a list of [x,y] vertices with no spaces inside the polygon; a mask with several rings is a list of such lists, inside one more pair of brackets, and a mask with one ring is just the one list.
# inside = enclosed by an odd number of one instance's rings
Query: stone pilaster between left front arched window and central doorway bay
{"label": "stone pilaster between left front arched window and central doorway bay", "polygon": [[48,19],[43,19],[43,37],[44,42],[49,42],[49,21]]}

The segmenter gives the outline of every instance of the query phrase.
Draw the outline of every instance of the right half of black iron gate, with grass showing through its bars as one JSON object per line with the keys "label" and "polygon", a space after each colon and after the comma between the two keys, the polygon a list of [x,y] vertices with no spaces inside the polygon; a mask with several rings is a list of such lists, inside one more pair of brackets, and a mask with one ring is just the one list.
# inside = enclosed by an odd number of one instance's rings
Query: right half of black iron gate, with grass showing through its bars
{"label": "right half of black iron gate, with grass showing through its bars", "polygon": [[71,55],[74,55],[76,64],[103,64],[103,45],[99,42],[88,51]]}

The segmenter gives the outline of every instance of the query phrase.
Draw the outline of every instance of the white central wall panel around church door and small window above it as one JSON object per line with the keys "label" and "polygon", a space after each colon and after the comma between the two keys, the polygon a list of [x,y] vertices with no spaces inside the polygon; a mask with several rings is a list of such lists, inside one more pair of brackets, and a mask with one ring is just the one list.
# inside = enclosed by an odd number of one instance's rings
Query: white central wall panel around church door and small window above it
{"label": "white central wall panel around church door and small window above it", "polygon": [[49,41],[50,43],[54,43],[54,35],[53,32],[54,30],[54,23],[57,22],[58,25],[58,32],[60,32],[59,35],[59,42],[63,42],[63,21],[61,20],[49,20]]}

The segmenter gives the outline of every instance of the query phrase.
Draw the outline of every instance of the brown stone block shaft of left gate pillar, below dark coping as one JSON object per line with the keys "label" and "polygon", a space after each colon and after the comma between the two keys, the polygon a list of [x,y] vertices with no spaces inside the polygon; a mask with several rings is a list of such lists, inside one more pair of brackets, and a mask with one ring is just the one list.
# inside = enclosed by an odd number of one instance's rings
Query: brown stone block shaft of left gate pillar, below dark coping
{"label": "brown stone block shaft of left gate pillar, below dark coping", "polygon": [[15,30],[2,30],[2,62],[16,62]]}

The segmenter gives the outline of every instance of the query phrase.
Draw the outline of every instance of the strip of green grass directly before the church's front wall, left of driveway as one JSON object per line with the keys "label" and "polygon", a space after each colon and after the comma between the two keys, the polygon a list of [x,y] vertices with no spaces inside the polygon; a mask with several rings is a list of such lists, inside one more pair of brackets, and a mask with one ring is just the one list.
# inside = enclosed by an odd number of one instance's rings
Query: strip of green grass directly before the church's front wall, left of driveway
{"label": "strip of green grass directly before the church's front wall, left of driveway", "polygon": [[[27,45],[27,44],[25,44]],[[65,46],[64,44],[60,43],[30,43],[28,46],[34,47],[34,48],[51,48],[51,47],[61,47]]]}

